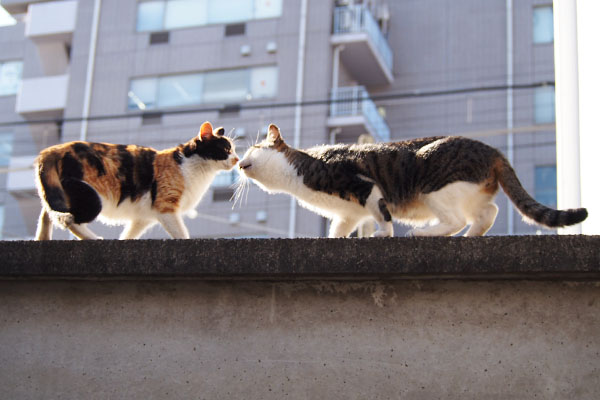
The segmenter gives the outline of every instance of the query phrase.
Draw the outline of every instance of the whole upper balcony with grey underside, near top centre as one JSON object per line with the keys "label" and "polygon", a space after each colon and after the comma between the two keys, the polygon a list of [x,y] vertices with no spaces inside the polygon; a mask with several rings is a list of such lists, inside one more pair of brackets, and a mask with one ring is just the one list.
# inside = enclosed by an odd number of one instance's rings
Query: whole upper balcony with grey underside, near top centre
{"label": "whole upper balcony with grey underside, near top centre", "polygon": [[334,10],[331,43],[344,46],[341,61],[359,83],[377,86],[394,80],[392,50],[364,4]]}

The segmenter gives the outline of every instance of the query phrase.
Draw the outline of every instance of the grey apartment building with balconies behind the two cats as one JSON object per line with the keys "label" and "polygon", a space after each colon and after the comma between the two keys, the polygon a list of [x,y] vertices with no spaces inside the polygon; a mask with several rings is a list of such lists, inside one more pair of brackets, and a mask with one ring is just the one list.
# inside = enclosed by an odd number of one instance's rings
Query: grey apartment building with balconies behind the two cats
{"label": "grey apartment building with balconies behind the two cats", "polygon": [[[298,146],[472,136],[500,148],[530,193],[556,204],[549,0],[0,4],[16,21],[0,27],[4,239],[35,232],[31,163],[42,148],[83,139],[163,149],[206,120],[233,130],[240,155],[271,122]],[[198,217],[186,219],[192,237],[325,234],[323,218],[254,185],[232,208],[236,179],[215,179]],[[503,195],[498,204],[490,234],[540,231]],[[155,227],[144,237],[166,235]]]}

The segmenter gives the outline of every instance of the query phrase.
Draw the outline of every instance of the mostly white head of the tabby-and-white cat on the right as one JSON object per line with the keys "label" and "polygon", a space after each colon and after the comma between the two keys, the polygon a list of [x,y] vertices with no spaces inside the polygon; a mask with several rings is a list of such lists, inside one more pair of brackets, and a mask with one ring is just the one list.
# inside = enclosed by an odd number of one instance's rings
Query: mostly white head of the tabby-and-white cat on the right
{"label": "mostly white head of the tabby-and-white cat on the right", "polygon": [[281,172],[279,164],[285,159],[288,149],[275,124],[269,125],[267,137],[260,143],[250,147],[239,163],[241,173],[259,183],[267,184]]}

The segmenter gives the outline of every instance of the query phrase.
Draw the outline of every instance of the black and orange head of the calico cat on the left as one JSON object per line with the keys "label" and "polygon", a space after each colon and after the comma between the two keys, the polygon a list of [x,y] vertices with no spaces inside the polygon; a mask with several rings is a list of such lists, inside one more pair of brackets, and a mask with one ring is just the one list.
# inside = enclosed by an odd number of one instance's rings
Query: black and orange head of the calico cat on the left
{"label": "black and orange head of the calico cat on the left", "polygon": [[235,144],[225,136],[225,129],[213,130],[210,122],[200,127],[198,136],[182,145],[181,152],[186,158],[198,156],[217,163],[219,169],[230,170],[237,164],[239,157],[235,153]]}

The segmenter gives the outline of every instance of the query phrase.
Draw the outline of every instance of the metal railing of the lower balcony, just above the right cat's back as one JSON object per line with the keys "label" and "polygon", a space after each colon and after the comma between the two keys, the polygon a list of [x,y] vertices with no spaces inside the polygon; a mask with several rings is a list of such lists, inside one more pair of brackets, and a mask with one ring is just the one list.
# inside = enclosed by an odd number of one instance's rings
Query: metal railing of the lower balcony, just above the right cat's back
{"label": "metal railing of the lower balcony, just above the right cat's back", "polygon": [[333,89],[331,93],[330,117],[363,117],[364,124],[377,140],[390,140],[390,128],[377,111],[377,106],[363,86]]}

